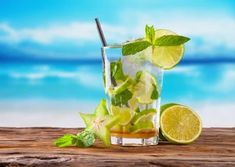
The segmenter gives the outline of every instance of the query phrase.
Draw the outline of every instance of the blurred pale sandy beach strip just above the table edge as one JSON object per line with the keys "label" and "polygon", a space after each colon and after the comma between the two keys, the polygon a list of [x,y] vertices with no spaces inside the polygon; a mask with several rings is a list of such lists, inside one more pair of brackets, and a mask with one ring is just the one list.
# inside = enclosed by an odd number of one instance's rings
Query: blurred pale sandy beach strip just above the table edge
{"label": "blurred pale sandy beach strip just above the table edge", "polygon": [[[97,102],[98,103],[98,102]],[[84,127],[79,112],[92,113],[90,101],[17,100],[0,101],[1,127]],[[202,118],[204,127],[235,127],[235,104],[190,105]]]}

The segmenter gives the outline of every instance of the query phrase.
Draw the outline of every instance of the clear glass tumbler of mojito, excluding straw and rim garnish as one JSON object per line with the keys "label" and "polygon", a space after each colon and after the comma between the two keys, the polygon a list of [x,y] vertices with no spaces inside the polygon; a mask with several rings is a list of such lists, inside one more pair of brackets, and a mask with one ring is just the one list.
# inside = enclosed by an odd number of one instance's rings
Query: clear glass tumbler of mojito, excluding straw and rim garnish
{"label": "clear glass tumbler of mojito, excluding straw and rim garnish", "polygon": [[118,45],[102,48],[107,107],[110,114],[120,115],[119,122],[111,128],[111,143],[156,145],[163,70],[141,54],[122,56],[121,51]]}

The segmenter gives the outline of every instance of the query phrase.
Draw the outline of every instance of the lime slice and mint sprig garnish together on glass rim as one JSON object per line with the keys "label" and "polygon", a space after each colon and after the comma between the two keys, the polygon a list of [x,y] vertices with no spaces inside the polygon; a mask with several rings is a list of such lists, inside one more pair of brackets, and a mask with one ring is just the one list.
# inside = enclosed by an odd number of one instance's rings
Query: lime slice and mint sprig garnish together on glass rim
{"label": "lime slice and mint sprig garnish together on glass rim", "polygon": [[123,56],[145,53],[145,59],[163,69],[171,69],[183,57],[184,44],[190,38],[177,35],[165,29],[154,29],[153,26],[146,25],[145,37],[122,46]]}

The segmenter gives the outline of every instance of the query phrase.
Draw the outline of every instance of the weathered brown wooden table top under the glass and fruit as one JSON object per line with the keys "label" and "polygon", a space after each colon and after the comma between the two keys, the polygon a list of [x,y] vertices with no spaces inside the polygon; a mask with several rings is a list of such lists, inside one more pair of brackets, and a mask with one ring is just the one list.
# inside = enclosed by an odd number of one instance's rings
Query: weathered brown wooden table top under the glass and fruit
{"label": "weathered brown wooden table top under the glass and fruit", "polygon": [[206,128],[190,145],[57,148],[52,141],[77,129],[0,128],[2,166],[235,166],[235,128]]}

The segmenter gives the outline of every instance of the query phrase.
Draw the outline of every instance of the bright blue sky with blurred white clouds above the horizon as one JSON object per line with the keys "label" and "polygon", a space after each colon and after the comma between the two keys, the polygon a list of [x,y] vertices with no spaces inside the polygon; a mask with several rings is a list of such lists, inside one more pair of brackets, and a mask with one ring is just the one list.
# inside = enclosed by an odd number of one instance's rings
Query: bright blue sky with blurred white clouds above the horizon
{"label": "bright blue sky with blurred white clouds above the horizon", "polygon": [[1,0],[0,55],[99,58],[99,17],[109,43],[152,24],[189,36],[186,58],[234,57],[234,8],[232,0]]}

